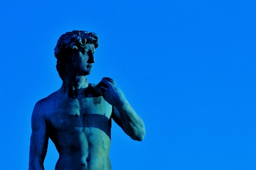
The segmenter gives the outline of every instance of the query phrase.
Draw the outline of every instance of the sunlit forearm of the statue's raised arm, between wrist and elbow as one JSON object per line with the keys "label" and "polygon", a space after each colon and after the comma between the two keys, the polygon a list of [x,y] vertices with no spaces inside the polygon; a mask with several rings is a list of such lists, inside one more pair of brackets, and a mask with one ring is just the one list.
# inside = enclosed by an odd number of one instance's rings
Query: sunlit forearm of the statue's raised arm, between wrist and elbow
{"label": "sunlit forearm of the statue's raised arm, between wrist and elbow", "polygon": [[146,134],[144,122],[125,99],[122,105],[116,106],[122,118],[124,131],[134,140],[142,141]]}

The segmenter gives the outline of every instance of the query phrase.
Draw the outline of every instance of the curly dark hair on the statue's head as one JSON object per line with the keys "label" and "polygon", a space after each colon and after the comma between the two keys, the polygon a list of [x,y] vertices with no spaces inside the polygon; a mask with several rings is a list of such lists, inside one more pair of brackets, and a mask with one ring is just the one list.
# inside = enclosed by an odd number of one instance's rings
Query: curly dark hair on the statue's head
{"label": "curly dark hair on the statue's head", "polygon": [[63,80],[65,64],[73,62],[73,53],[85,48],[85,44],[92,43],[98,47],[98,37],[94,32],[77,31],[66,32],[61,35],[54,48],[54,55],[57,59],[56,69],[60,78]]}

